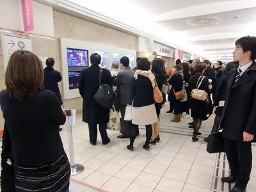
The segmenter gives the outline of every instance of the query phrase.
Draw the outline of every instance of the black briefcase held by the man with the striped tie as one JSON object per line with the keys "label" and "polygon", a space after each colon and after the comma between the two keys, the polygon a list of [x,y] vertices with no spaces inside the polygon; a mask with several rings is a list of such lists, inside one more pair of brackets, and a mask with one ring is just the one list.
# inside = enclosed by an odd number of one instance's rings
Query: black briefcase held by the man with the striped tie
{"label": "black briefcase held by the man with the striped tie", "polygon": [[209,154],[224,152],[224,139],[220,130],[211,132],[206,150]]}

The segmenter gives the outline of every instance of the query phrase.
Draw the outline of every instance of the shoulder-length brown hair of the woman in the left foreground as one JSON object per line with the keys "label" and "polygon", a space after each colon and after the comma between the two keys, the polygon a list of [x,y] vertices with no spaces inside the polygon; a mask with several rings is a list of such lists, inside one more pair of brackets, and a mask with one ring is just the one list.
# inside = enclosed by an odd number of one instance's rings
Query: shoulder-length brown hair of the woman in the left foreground
{"label": "shoulder-length brown hair of the woman in the left foreground", "polygon": [[6,68],[5,84],[10,97],[18,100],[41,90],[44,71],[40,59],[30,51],[13,52]]}

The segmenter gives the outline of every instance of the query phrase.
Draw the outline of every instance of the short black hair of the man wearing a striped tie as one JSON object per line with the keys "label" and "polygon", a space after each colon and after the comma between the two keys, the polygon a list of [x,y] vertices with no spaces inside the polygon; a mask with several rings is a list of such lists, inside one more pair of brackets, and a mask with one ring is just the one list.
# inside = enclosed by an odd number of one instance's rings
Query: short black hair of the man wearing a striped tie
{"label": "short black hair of the man wearing a striped tie", "polygon": [[236,41],[236,46],[239,45],[243,52],[251,51],[251,60],[256,58],[256,37],[255,36],[243,36]]}

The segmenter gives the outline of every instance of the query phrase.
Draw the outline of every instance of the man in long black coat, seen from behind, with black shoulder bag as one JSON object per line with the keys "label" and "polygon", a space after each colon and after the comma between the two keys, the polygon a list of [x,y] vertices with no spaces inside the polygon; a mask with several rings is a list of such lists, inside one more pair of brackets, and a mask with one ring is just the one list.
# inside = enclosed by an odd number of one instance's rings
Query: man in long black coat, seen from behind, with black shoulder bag
{"label": "man in long black coat, seen from behind, with black shoulder bag", "polygon": [[[83,97],[83,122],[88,123],[90,143],[92,145],[97,143],[97,124],[99,124],[102,144],[106,145],[110,142],[107,133],[109,109],[102,108],[93,98],[99,89],[100,60],[101,57],[97,53],[93,53],[90,56],[92,65],[81,71],[78,86],[79,93]],[[109,84],[112,87],[113,79],[110,71],[106,68],[102,68],[100,84]]]}

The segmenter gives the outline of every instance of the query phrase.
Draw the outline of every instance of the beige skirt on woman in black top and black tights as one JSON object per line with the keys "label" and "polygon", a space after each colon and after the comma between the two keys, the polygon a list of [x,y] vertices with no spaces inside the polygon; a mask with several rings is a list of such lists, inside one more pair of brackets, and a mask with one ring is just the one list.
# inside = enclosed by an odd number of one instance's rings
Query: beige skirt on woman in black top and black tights
{"label": "beige skirt on woman in black top and black tights", "polygon": [[150,125],[157,122],[155,104],[143,107],[132,106],[132,124]]}

